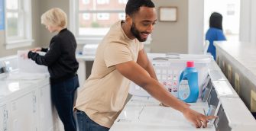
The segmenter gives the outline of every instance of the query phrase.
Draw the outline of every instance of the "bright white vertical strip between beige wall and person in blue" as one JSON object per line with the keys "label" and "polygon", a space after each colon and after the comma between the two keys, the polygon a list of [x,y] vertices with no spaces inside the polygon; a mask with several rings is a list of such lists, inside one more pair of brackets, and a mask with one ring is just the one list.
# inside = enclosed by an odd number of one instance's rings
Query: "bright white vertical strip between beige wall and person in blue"
{"label": "bright white vertical strip between beige wall and person in blue", "polygon": [[188,53],[203,53],[203,0],[189,0]]}

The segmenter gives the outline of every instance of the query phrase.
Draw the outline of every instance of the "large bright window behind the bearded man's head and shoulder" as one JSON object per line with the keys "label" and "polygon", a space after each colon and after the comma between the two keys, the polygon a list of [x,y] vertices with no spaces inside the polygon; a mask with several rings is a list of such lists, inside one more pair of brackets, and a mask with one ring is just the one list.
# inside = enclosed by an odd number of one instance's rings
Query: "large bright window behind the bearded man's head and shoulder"
{"label": "large bright window behind the bearded man's head and shoulder", "polygon": [[[78,44],[98,44],[116,21],[125,20],[127,0],[70,0],[70,30]],[[123,4],[120,4],[122,2]],[[146,43],[150,43],[151,37]]]}

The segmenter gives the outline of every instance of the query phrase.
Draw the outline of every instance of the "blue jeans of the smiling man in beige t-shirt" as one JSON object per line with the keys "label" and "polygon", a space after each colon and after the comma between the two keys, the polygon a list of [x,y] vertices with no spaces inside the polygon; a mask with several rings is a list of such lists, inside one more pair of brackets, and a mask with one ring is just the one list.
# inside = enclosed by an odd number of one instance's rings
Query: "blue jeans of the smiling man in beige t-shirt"
{"label": "blue jeans of the smiling man in beige t-shirt", "polygon": [[85,112],[76,110],[77,123],[79,131],[108,131],[109,128],[100,126],[98,123],[91,120]]}

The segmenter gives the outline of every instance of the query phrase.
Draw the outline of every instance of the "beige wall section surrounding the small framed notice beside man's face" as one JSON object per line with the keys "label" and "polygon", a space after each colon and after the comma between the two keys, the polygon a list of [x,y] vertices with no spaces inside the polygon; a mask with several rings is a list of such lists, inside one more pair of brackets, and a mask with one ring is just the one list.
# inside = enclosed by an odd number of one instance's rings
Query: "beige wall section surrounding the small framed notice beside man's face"
{"label": "beige wall section surrounding the small framed notice beside man's face", "polygon": [[157,11],[162,6],[177,7],[177,21],[157,21],[152,33],[151,52],[188,53],[188,0],[153,0],[153,2]]}

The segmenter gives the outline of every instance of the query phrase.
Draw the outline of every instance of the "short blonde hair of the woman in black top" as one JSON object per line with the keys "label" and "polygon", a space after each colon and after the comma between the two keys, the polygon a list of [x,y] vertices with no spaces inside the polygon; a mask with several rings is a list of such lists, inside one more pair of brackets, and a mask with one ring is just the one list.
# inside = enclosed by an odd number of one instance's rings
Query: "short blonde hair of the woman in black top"
{"label": "short blonde hair of the woman in black top", "polygon": [[60,8],[51,8],[41,16],[41,24],[66,27],[66,13]]}

